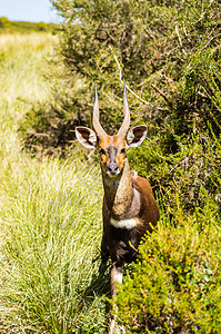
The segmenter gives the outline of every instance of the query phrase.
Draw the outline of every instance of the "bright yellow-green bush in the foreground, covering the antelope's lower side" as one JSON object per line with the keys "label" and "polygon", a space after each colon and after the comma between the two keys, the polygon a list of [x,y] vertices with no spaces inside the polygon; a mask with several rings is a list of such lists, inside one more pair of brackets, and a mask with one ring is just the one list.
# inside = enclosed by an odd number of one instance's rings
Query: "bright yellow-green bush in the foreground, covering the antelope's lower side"
{"label": "bright yellow-green bush in the foreground, covering the antelope's lower side", "polygon": [[140,261],[119,286],[125,333],[220,333],[221,229],[217,216],[177,209],[140,246]]}

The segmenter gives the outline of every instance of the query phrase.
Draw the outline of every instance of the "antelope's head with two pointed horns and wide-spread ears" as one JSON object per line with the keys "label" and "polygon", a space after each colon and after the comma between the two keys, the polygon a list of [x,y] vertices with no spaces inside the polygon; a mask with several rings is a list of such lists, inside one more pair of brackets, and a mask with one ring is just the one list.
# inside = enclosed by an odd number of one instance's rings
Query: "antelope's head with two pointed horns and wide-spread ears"
{"label": "antelope's head with two pointed horns and wide-spread ears", "polygon": [[94,86],[93,130],[87,127],[77,127],[77,139],[87,148],[97,148],[101,157],[101,168],[110,177],[121,174],[127,150],[138,147],[145,139],[147,127],[139,125],[129,130],[130,111],[128,107],[125,85],[123,85],[123,122],[117,135],[109,136],[99,121],[99,102],[97,86]]}

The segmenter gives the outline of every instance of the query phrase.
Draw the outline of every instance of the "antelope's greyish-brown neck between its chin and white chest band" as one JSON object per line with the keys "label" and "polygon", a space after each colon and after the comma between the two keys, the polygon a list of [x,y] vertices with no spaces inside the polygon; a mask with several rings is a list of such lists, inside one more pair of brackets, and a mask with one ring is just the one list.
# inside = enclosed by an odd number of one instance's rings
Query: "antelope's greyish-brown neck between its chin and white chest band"
{"label": "antelope's greyish-brown neck between its chin and white chest band", "polygon": [[133,198],[133,188],[128,159],[124,160],[123,170],[115,177],[110,177],[102,170],[104,197],[111,217],[127,218]]}

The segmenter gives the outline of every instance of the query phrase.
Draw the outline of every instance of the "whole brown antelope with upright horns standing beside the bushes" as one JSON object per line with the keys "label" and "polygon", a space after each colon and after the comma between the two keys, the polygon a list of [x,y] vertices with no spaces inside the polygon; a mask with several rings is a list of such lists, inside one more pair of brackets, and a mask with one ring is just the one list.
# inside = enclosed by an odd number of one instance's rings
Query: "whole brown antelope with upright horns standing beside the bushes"
{"label": "whole brown antelope with upright horns standing beside the bushes", "polygon": [[[109,136],[99,121],[99,101],[94,87],[93,130],[77,127],[77,139],[87,148],[98,149],[104,189],[102,216],[101,264],[111,257],[111,295],[117,295],[115,282],[122,283],[123,264],[137,257],[141,238],[152,230],[159,219],[159,209],[149,181],[130,170],[127,150],[138,147],[147,136],[147,127],[129,130],[130,111],[123,85],[123,122],[114,136]],[[112,315],[108,333],[113,332]]]}

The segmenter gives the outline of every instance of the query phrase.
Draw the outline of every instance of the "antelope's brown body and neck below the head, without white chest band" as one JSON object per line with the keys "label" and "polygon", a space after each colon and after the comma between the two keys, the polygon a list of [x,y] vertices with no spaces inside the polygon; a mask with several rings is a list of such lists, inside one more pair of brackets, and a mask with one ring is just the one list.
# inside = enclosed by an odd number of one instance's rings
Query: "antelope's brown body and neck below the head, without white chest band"
{"label": "antelope's brown body and neck below the head, without white chest band", "polygon": [[[151,232],[159,219],[159,209],[153,198],[149,181],[135,173],[130,173],[128,159],[119,177],[108,177],[102,173],[103,198],[103,237],[101,243],[102,262],[111,257],[112,268],[122,271],[123,263],[137,257],[137,249],[147,230]],[[115,179],[118,178],[118,179]],[[135,218],[137,226],[132,229],[115,228],[110,219]],[[111,291],[117,294],[114,281]]]}

